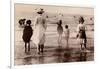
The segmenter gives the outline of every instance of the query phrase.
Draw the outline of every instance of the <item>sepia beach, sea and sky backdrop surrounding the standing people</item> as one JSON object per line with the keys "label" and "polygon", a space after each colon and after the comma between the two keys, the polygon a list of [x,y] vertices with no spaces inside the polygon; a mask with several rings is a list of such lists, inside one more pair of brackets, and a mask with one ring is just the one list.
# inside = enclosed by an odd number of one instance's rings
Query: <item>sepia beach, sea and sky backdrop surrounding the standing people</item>
{"label": "sepia beach, sea and sky backdrop surrounding the standing people", "polygon": [[[45,43],[43,54],[37,54],[36,46],[32,39],[30,41],[30,53],[24,52],[24,41],[22,39],[24,27],[20,26],[19,20],[31,20],[33,28],[38,9],[44,9],[47,29],[45,32]],[[60,16],[59,16],[60,15]],[[76,38],[76,28],[79,17],[84,18],[86,25],[87,50],[80,51],[80,45]],[[69,47],[66,48],[65,34],[62,34],[62,45],[58,45],[57,24],[62,19],[63,31],[65,25],[69,26]],[[33,29],[34,34],[34,29]],[[50,63],[86,62],[94,60],[94,8],[72,7],[38,4],[15,4],[14,5],[14,64],[34,65]]]}

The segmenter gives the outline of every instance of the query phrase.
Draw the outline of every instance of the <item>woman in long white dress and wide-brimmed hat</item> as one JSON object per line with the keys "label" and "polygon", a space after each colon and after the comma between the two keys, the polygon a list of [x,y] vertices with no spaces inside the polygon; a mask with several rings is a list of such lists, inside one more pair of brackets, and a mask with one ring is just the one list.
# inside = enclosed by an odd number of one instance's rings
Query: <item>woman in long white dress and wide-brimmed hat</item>
{"label": "woman in long white dress and wide-brimmed hat", "polygon": [[34,22],[34,33],[33,33],[33,42],[37,46],[37,52],[40,54],[43,53],[44,43],[45,43],[45,31],[46,31],[46,22],[45,18],[43,17],[43,9],[40,9],[37,12],[38,16]]}

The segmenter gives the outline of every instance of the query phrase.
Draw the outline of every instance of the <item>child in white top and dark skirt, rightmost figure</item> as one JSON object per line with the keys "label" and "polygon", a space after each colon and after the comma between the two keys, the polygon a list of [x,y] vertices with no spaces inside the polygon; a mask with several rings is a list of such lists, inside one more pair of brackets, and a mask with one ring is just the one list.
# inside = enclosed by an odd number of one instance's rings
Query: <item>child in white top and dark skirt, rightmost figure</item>
{"label": "child in white top and dark skirt, rightmost figure", "polygon": [[84,48],[86,49],[86,43],[87,43],[87,38],[86,38],[86,26],[84,25],[84,18],[80,17],[79,19],[79,24],[77,26],[77,38],[79,40],[81,50]]}

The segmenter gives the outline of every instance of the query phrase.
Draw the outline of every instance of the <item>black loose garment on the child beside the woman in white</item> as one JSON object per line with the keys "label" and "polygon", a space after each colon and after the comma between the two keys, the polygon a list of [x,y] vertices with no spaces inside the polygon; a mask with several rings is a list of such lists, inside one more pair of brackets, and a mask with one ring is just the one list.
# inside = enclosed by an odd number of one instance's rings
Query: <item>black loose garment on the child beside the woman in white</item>
{"label": "black loose garment on the child beside the woman in white", "polygon": [[24,31],[23,31],[23,40],[24,42],[30,42],[30,39],[32,37],[33,30],[31,26],[25,26]]}

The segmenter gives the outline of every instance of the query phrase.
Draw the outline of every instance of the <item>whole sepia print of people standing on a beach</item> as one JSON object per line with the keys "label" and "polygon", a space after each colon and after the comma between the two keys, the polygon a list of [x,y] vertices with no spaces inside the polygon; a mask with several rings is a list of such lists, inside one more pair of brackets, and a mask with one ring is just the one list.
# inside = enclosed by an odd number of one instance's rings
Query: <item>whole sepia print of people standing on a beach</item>
{"label": "whole sepia print of people standing on a beach", "polygon": [[94,8],[14,4],[14,65],[94,61]]}

